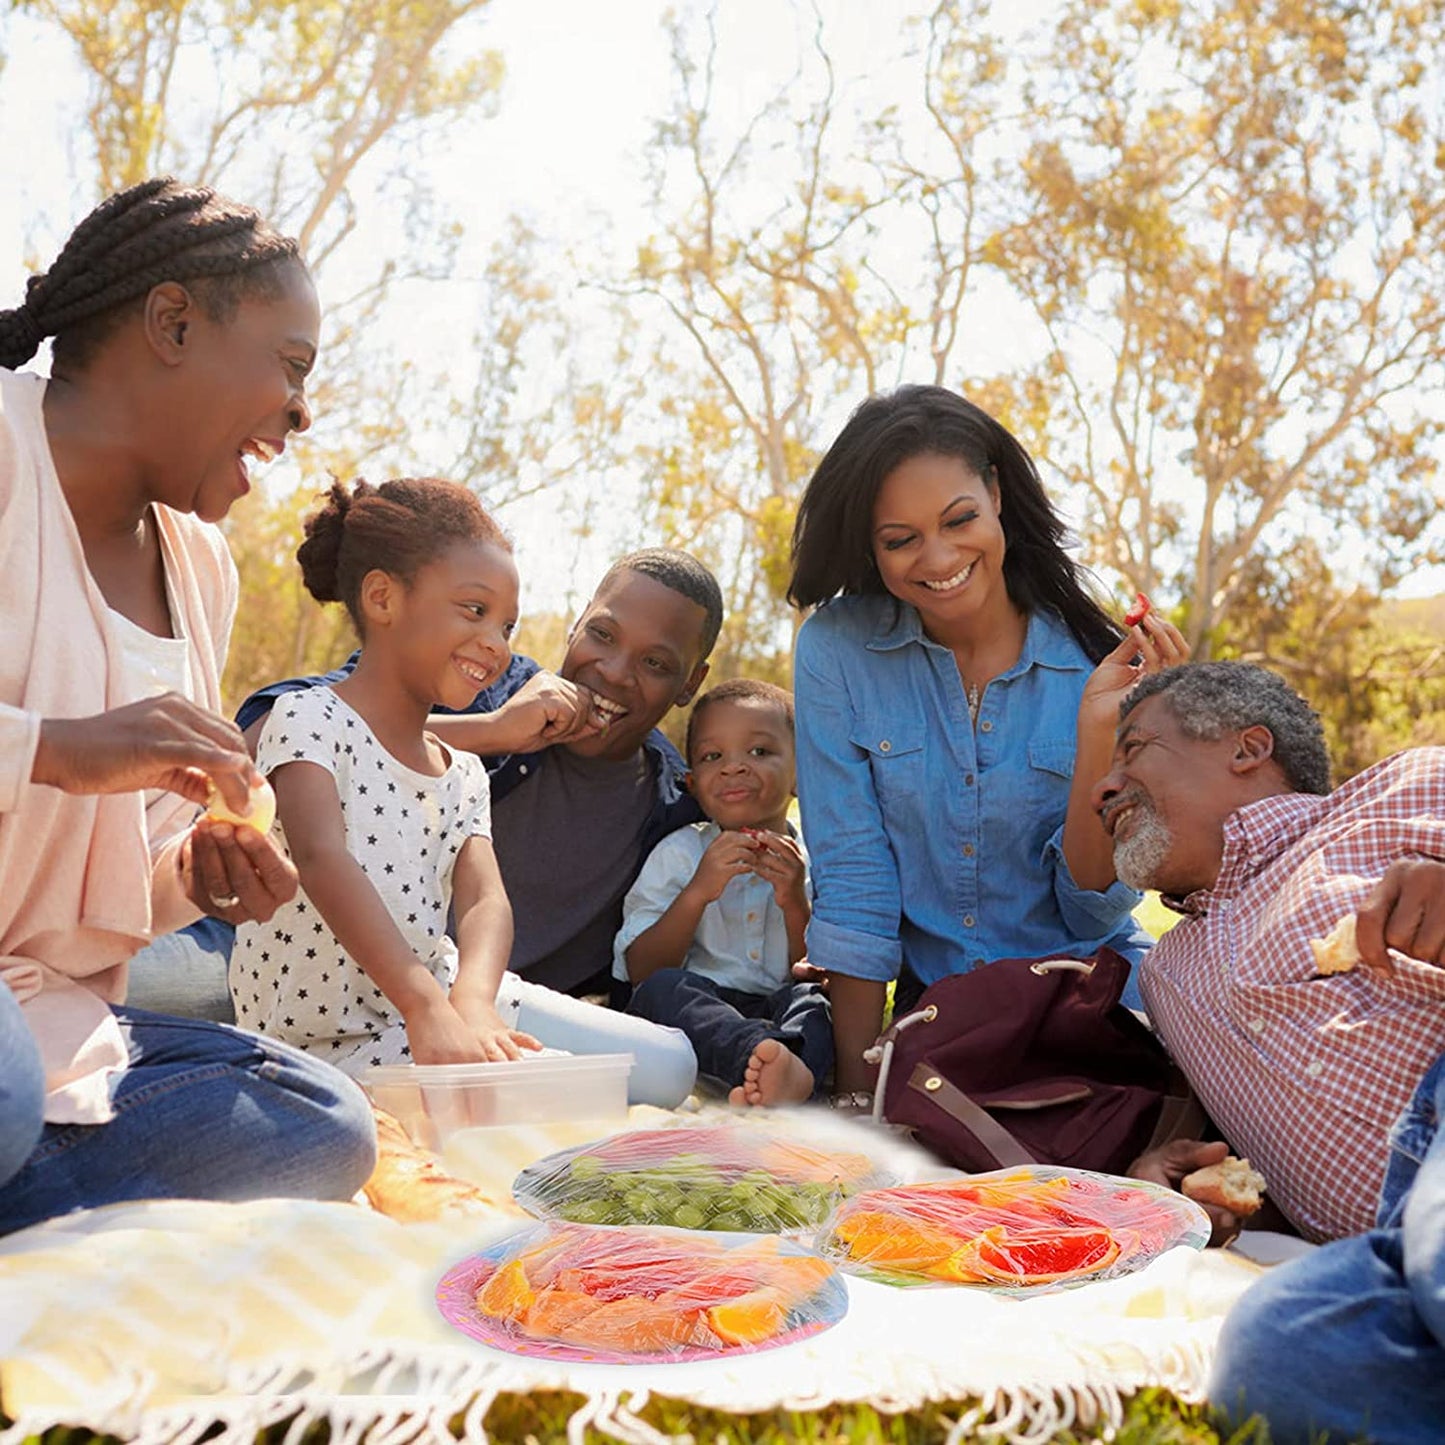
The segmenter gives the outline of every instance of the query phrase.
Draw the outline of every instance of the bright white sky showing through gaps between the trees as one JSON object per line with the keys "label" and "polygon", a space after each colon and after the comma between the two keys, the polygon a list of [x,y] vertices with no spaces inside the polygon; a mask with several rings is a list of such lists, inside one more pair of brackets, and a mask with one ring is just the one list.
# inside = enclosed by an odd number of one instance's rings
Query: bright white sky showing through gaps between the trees
{"label": "bright white sky showing through gaps between the trees", "polygon": [[[512,212],[559,247],[604,247],[617,256],[630,254],[652,228],[644,152],[672,85],[662,30],[666,9],[666,0],[494,0],[481,33],[506,62],[500,111],[454,134],[442,153],[416,158],[429,169],[441,214],[465,227],[473,257],[503,233]],[[728,78],[722,104],[734,104],[741,116],[790,69],[796,20],[792,7],[777,0],[724,0],[718,9],[720,74]],[[899,17],[912,9],[828,0],[824,10],[840,72],[871,71],[871,84],[886,87],[890,75],[874,61],[897,49]],[[1006,23],[1023,27],[1051,12],[1049,0],[1012,0]],[[43,264],[53,254],[94,195],[78,123],[84,87],[68,48],[13,13],[0,35],[10,42],[0,72],[0,155],[9,158],[0,195],[0,305],[14,305],[29,263]],[[384,211],[376,217],[380,227],[387,221]],[[337,283],[337,277],[322,280],[324,288]],[[975,305],[1001,302],[984,296]],[[470,324],[455,292],[436,295],[396,328],[393,345],[460,353]],[[1006,345],[1010,328],[978,334],[997,335]],[[970,357],[980,371],[1006,360]],[[465,374],[464,354],[457,366]],[[324,428],[319,418],[318,432]],[[277,464],[272,484],[295,481],[286,464]],[[584,538],[572,530],[581,513],[574,496],[561,506],[549,499],[507,514],[529,610],[564,608],[585,597],[626,535],[630,517],[605,499],[601,504],[594,499]],[[1442,588],[1445,572],[1436,569],[1420,574],[1407,592]]]}

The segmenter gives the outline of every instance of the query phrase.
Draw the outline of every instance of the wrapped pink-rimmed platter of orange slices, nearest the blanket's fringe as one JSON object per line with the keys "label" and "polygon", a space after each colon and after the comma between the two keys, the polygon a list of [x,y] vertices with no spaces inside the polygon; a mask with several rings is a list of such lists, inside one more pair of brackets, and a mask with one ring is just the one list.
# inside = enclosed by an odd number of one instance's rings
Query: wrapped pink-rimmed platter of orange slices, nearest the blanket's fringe
{"label": "wrapped pink-rimmed platter of orange slices, nearest the blanket's fringe", "polygon": [[657,1364],[802,1340],[842,1318],[847,1290],[775,1235],[551,1222],[454,1266],[436,1303],[512,1354]]}

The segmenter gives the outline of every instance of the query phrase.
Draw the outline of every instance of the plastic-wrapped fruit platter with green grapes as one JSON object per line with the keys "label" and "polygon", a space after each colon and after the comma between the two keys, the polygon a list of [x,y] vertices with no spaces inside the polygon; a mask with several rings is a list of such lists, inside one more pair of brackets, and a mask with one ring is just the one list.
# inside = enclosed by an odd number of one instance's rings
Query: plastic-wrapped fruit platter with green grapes
{"label": "plastic-wrapped fruit platter with green grapes", "polygon": [[866,1155],[721,1124],[566,1149],[523,1169],[512,1192],[529,1214],[578,1224],[777,1234],[816,1228],[841,1199],[892,1182]]}

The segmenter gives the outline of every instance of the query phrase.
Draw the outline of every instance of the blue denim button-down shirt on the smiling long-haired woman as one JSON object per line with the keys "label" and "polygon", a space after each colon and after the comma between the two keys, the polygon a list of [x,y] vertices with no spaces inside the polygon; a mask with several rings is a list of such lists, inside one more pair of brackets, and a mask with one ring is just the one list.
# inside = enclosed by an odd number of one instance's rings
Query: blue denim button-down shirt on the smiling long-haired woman
{"label": "blue denim button-down shirt on the smiling long-haired woman", "polygon": [[1123,883],[1081,889],[1064,861],[1079,698],[1094,665],[1064,621],[1029,618],[977,730],[952,652],[915,608],[844,597],[793,659],[798,793],[812,855],[812,962],[933,983],[996,958],[1137,961],[1149,936]]}

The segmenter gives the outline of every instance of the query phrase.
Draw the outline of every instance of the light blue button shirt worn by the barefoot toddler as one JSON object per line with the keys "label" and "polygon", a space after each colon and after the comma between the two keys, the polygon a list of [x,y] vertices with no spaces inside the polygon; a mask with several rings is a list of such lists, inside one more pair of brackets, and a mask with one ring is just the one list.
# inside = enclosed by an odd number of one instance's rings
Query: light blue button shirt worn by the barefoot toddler
{"label": "light blue button shirt worn by the barefoot toddler", "polygon": [[[672,907],[721,831],[715,822],[695,822],[669,832],[647,855],[623,900],[623,926],[613,948],[614,978],[627,977],[627,946]],[[798,845],[802,847],[802,838]],[[805,850],[805,867],[806,857]],[[773,884],[756,873],[731,879],[702,910],[682,967],[743,993],[769,994],[792,983],[788,923],[773,899]]]}

